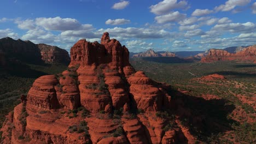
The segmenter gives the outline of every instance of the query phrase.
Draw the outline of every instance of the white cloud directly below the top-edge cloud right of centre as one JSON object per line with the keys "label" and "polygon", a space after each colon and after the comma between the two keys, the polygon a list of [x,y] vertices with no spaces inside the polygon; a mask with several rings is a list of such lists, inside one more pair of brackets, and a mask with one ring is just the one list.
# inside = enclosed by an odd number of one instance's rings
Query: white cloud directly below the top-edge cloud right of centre
{"label": "white cloud directly below the top-edge cloud right of centre", "polygon": [[178,22],[185,19],[185,17],[185,14],[181,14],[179,11],[174,11],[173,13],[156,16],[155,20],[157,23]]}

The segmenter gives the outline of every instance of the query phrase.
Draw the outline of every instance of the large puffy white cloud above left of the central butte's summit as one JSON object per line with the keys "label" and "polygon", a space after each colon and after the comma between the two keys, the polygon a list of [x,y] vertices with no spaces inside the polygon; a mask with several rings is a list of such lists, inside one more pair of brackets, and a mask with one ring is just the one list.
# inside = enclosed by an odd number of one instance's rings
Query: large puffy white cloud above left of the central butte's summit
{"label": "large puffy white cloud above left of the central butte's summit", "polygon": [[61,17],[39,17],[36,19],[36,25],[45,28],[46,30],[52,31],[68,31],[68,30],[76,30],[81,29],[82,25],[78,22],[78,20]]}

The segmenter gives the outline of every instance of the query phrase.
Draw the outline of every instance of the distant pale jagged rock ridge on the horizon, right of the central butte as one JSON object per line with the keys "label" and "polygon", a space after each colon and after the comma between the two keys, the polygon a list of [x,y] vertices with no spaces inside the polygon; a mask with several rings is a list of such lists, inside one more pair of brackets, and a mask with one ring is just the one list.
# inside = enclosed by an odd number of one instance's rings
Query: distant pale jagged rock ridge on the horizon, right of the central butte
{"label": "distant pale jagged rock ridge on the horizon, right of the central butte", "polygon": [[152,49],[147,50],[146,52],[141,52],[132,57],[175,57],[175,53],[172,52],[155,52]]}

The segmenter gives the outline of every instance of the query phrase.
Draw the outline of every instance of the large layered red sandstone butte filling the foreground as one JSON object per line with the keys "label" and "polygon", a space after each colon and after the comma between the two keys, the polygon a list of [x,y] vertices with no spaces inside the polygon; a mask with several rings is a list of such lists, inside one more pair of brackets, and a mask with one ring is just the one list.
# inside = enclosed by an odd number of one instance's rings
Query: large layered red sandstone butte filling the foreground
{"label": "large layered red sandstone butte filling the foreground", "polygon": [[82,39],[70,53],[67,70],[39,77],[26,100],[9,113],[1,129],[3,143],[196,141],[181,121],[170,128],[170,119],[159,116],[174,109],[169,86],[136,72],[128,49],[107,32],[101,44]]}

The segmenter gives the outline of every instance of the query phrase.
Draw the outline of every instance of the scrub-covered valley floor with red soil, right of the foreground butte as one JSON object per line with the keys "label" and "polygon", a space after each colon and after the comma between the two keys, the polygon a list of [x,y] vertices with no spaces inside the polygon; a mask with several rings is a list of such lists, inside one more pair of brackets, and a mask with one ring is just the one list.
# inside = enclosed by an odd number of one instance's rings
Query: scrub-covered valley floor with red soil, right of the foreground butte
{"label": "scrub-covered valley floor with red soil, right of the foreground butte", "polygon": [[[188,120],[189,117],[185,118],[190,132],[198,140],[256,142],[256,64],[161,63],[143,58],[133,58],[130,62],[136,70],[142,70],[153,80],[168,83],[182,93],[173,99],[182,99],[193,115],[208,117],[208,121],[218,125],[214,129],[205,124],[204,130],[199,130],[191,125],[193,122]],[[207,76],[212,74],[218,75]]]}

